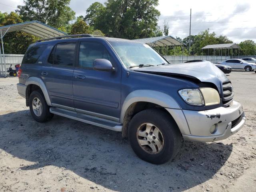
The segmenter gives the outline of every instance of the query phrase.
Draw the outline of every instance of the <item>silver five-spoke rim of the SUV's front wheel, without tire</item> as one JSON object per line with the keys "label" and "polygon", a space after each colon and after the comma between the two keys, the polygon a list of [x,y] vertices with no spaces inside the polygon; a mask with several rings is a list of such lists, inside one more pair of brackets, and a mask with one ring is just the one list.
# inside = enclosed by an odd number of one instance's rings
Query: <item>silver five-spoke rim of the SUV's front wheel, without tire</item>
{"label": "silver five-spoke rim of the SUV's front wheel, without tire", "polygon": [[162,132],[152,123],[143,123],[138,127],[137,141],[149,154],[159,153],[164,146]]}

